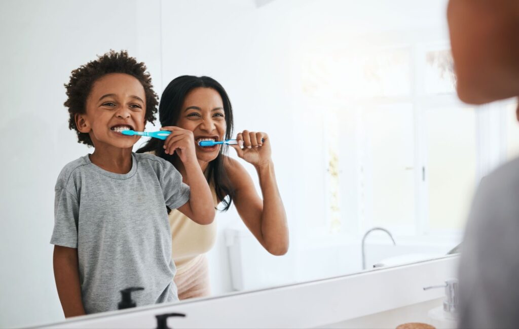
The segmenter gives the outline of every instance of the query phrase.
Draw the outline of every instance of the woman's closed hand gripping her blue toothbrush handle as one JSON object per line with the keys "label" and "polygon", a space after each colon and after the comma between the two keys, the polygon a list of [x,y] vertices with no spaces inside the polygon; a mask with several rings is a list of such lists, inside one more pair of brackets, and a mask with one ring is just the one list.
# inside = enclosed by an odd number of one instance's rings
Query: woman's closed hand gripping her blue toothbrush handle
{"label": "woman's closed hand gripping her blue toothbrush handle", "polygon": [[256,168],[271,162],[270,140],[266,133],[244,130],[236,136],[238,145],[231,145],[238,156]]}

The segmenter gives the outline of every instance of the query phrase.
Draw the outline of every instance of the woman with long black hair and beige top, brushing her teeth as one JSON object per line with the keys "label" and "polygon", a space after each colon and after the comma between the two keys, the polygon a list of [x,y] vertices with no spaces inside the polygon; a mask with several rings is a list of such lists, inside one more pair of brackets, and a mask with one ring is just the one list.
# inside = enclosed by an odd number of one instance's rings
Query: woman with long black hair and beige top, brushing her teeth
{"label": "woman with long black hair and beige top, brushing her teeth", "polygon": [[[256,168],[263,200],[245,168],[225,155],[226,146],[198,146],[200,140],[233,138],[233,110],[222,85],[210,77],[181,76],[172,80],[160,98],[159,120],[161,130],[182,128],[193,132],[197,159],[211,187],[215,207],[222,203],[222,211],[226,211],[234,202],[240,218],[260,244],[271,254],[285,254],[288,226],[268,135],[245,130],[236,136],[239,145],[232,146],[239,158]],[[175,149],[175,139],[170,136],[165,141],[151,139],[138,152],[154,152],[170,161],[189,184]],[[177,210],[169,213],[169,220],[179,299],[208,296],[209,270],[204,253],[214,245],[216,221],[198,225]]]}

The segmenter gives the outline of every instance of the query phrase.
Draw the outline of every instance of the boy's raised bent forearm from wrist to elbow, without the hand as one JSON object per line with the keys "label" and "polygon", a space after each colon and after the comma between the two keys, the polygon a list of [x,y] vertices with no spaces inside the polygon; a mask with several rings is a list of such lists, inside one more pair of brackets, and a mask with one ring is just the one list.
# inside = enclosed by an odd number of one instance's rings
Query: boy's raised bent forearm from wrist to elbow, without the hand
{"label": "boy's raised bent forearm from wrist to elbow, without the hand", "polygon": [[211,224],[215,215],[213,195],[206,177],[203,176],[200,164],[198,161],[194,161],[184,163],[184,167],[190,188],[189,200],[177,209],[195,223]]}

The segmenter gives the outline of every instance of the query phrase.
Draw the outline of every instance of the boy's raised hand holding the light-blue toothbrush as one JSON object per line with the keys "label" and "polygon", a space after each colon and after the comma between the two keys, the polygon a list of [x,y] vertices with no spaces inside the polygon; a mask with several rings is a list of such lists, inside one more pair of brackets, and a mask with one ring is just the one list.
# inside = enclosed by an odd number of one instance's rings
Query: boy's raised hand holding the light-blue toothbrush
{"label": "boy's raised hand holding the light-blue toothbrush", "polygon": [[193,132],[176,126],[162,127],[160,130],[170,131],[171,134],[164,141],[164,152],[166,154],[179,155],[180,160],[184,163],[197,162],[195,151],[195,137]]}

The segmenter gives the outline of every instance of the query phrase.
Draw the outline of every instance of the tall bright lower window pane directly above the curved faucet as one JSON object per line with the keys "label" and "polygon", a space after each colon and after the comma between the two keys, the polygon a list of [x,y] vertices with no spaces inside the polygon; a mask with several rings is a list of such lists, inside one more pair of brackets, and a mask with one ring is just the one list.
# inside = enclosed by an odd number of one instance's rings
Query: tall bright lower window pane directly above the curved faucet
{"label": "tall bright lower window pane directly above the curved faucet", "polygon": [[411,104],[363,113],[365,217],[374,226],[414,230],[414,116]]}

